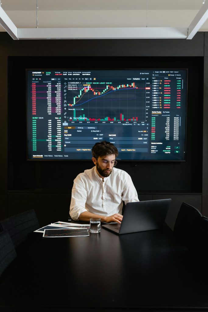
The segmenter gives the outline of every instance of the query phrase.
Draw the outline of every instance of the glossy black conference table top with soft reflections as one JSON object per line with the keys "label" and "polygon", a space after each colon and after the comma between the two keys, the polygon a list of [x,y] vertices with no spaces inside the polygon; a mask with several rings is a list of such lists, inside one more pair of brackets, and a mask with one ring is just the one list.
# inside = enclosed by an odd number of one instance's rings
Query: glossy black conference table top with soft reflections
{"label": "glossy black conference table top with soft reflections", "polygon": [[167,226],[120,236],[104,228],[89,237],[34,235],[1,280],[0,311],[208,311],[207,278]]}

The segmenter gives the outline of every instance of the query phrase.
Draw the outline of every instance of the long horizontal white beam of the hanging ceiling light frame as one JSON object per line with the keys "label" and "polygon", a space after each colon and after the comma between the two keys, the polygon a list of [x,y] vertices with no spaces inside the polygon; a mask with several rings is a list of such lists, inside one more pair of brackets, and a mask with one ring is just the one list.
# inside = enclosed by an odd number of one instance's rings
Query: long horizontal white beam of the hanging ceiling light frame
{"label": "long horizontal white beam of the hanging ceiling light frame", "polygon": [[18,28],[18,39],[184,39],[187,31],[186,27]]}

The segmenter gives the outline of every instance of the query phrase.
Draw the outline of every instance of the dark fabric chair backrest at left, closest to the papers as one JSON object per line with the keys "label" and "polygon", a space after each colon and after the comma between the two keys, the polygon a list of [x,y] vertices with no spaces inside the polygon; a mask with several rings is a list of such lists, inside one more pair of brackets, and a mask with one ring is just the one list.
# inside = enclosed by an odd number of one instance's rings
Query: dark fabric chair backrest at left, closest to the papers
{"label": "dark fabric chair backrest at left, closest to the papers", "polygon": [[29,233],[40,228],[34,209],[19,213],[0,222],[2,230],[7,230],[15,248],[19,248]]}

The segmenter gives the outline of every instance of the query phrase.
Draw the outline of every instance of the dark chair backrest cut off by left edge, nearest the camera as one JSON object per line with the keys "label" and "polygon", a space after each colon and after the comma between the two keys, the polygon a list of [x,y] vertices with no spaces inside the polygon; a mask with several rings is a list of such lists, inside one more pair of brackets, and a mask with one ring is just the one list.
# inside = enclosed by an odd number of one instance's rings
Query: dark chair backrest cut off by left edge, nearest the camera
{"label": "dark chair backrest cut off by left edge, nearest the camera", "polygon": [[0,232],[0,275],[16,258],[17,253],[14,249],[12,239],[8,231]]}

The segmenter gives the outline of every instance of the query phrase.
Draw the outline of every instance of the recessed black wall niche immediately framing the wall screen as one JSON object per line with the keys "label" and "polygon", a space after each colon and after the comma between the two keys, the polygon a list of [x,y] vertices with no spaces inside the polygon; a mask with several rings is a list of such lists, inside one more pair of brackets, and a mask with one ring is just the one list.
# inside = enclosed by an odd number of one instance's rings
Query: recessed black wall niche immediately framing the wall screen
{"label": "recessed black wall niche immediately framing the wall screen", "polygon": [[[186,162],[123,162],[141,192],[201,193],[203,57],[8,57],[8,189],[68,189],[73,180],[93,163],[76,161],[26,161],[26,68],[188,68]],[[200,79],[199,79],[200,78]],[[197,109],[196,109],[197,107]],[[194,124],[194,127],[192,125]],[[15,129],[15,131],[14,131]],[[200,156],[199,156],[200,155]],[[193,166],[198,157],[198,166]],[[179,178],[180,177],[180,178]],[[194,177],[194,178],[193,178]],[[167,183],[168,181],[168,183]]]}

